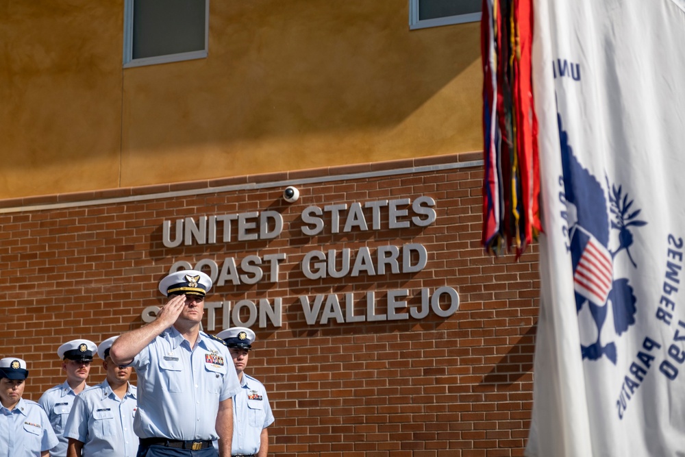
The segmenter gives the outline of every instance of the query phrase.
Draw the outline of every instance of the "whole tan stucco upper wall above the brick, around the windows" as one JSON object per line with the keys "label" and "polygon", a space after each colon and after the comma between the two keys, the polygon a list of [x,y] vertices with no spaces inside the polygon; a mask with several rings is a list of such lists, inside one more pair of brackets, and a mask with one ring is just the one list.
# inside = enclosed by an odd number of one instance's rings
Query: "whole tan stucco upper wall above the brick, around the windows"
{"label": "whole tan stucco upper wall above the brick, around the windows", "polygon": [[474,151],[479,24],[212,1],[206,59],[122,69],[123,0],[0,1],[0,198]]}

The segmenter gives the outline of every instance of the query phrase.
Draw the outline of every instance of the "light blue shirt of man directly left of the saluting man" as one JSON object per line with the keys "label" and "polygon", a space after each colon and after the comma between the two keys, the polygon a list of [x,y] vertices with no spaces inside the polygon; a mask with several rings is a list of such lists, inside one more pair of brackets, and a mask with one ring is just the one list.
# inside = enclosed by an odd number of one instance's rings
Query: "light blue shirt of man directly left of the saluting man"
{"label": "light blue shirt of man directly left of the saluting man", "polygon": [[104,380],[76,397],[64,425],[64,437],[84,443],[84,456],[136,457],[138,436],[133,431],[133,418],[137,405],[136,386],[129,384],[119,399]]}

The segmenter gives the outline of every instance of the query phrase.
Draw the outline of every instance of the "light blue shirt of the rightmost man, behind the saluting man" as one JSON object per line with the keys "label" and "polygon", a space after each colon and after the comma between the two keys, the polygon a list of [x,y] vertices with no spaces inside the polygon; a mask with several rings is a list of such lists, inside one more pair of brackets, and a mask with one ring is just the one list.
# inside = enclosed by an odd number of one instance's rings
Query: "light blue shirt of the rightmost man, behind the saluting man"
{"label": "light blue shirt of the rightmost man, behind the saluting man", "polygon": [[231,454],[257,454],[260,435],[273,423],[273,413],[264,384],[242,373],[240,392],[233,397],[233,442]]}

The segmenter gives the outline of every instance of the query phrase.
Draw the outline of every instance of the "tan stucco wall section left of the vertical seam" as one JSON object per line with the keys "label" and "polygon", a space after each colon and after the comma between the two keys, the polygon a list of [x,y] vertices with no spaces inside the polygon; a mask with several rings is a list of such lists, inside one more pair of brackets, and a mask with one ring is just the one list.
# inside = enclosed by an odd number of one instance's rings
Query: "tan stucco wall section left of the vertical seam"
{"label": "tan stucco wall section left of the vertical seam", "polygon": [[0,1],[0,197],[118,186],[122,29],[114,2]]}

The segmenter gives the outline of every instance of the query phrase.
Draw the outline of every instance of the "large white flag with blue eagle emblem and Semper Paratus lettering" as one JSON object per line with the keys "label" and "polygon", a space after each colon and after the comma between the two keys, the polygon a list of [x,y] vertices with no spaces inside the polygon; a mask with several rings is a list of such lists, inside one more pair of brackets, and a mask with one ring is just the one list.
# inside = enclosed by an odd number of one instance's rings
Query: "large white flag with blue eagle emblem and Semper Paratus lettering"
{"label": "large white flag with blue eagle emblem and Semper Paratus lettering", "polygon": [[685,456],[685,1],[537,0],[529,456]]}

